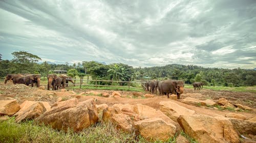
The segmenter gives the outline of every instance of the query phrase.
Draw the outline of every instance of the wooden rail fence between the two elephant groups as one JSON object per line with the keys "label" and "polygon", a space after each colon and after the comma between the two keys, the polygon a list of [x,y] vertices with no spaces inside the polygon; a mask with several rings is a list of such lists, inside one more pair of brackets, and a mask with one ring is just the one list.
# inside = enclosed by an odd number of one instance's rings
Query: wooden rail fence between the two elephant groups
{"label": "wooden rail fence between the two elephant groups", "polygon": [[[67,83],[67,84],[70,84],[70,85],[79,85],[80,86],[80,89],[82,87],[82,85],[85,85],[85,86],[95,86],[96,88],[97,87],[122,87],[122,88],[134,88],[134,89],[146,89],[146,82],[145,81],[115,81],[115,80],[93,80],[93,79],[83,79],[83,78],[80,78],[80,79],[76,79],[76,78],[66,78],[66,79],[72,79],[74,81],[74,83]],[[76,83],[78,81],[78,83]],[[89,82],[95,82],[94,84],[89,84]],[[110,82],[109,85],[101,85],[99,84],[98,82]],[[113,85],[114,82],[119,82],[119,84],[121,83],[127,83],[126,86],[124,85]],[[133,87],[132,84],[140,84],[141,85],[141,88],[138,88],[138,87]]]}

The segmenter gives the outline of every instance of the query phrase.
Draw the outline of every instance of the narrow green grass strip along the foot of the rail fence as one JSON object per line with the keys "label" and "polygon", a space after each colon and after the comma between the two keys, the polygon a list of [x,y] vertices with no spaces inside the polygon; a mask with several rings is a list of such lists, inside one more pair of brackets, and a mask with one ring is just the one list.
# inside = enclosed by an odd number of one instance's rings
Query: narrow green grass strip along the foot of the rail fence
{"label": "narrow green grass strip along the foot of the rail fence", "polygon": [[[68,87],[67,89],[72,90],[72,89],[80,89],[80,86],[75,86],[75,87]],[[144,92],[142,89],[134,89],[134,88],[122,88],[122,87],[94,87],[94,86],[81,86],[81,89],[83,90],[113,90],[113,91],[135,91],[135,92]]]}

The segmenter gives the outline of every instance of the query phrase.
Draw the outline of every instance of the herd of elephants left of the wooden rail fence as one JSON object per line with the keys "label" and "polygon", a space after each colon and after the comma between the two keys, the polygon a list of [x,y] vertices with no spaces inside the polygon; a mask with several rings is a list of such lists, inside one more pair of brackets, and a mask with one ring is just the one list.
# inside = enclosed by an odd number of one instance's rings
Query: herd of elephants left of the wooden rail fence
{"label": "herd of elephants left of the wooden rail fence", "polygon": [[[68,82],[73,82],[72,79],[66,79],[66,78],[71,78],[68,77],[66,75],[55,75],[55,74],[49,74],[47,76],[48,78],[48,82],[47,82],[47,90],[50,90],[50,88],[52,88],[52,90],[58,90],[61,88],[65,88],[65,83],[66,86],[68,87]],[[7,74],[6,78],[5,78],[5,83],[7,83],[8,80],[12,80],[13,84],[26,84],[27,86],[29,86],[29,84],[31,84],[31,87],[34,87],[34,84],[36,85],[36,87],[40,87],[40,80],[41,80],[41,75],[40,74]]]}

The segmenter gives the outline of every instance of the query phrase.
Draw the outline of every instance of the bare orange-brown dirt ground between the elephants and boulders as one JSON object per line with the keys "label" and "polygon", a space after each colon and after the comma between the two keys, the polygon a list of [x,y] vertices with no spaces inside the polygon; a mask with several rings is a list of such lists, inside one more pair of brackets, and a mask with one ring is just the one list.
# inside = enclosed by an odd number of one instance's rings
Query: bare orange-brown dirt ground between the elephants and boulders
{"label": "bare orange-brown dirt ground between the elephants and boulders", "polygon": [[[46,85],[44,85],[46,87]],[[115,103],[121,103],[121,104],[143,104],[148,105],[151,107],[154,107],[156,109],[159,109],[159,102],[161,101],[168,101],[170,99],[167,98],[167,96],[159,96],[154,94],[154,98],[135,98],[133,97],[133,92],[124,92],[124,91],[118,91],[121,93],[122,97],[120,98],[105,98],[105,97],[99,97],[99,96],[84,96],[79,95],[82,92],[89,92],[89,91],[97,91],[97,92],[106,92],[110,95],[114,91],[107,91],[107,90],[80,90],[76,89],[74,91],[68,90],[65,92],[58,91],[48,91],[48,90],[42,90],[38,88],[31,88],[27,87],[24,84],[12,84],[8,82],[7,84],[0,83],[0,100],[11,100],[16,99],[18,103],[22,103],[25,100],[33,100],[33,101],[47,101],[52,105],[54,102],[57,102],[60,100],[60,97],[62,100],[67,100],[73,97],[77,97],[80,101],[94,98],[96,99],[97,104],[106,103],[108,105],[113,105]],[[148,92],[144,92],[142,94],[150,94]],[[219,98],[226,98],[229,103],[240,103],[242,105],[249,106],[253,108],[252,111],[237,111],[238,113],[241,113],[243,115],[246,115],[248,118],[253,118],[256,116],[256,95],[254,93],[241,93],[241,92],[228,92],[228,91],[212,91],[208,89],[203,89],[200,91],[194,91],[193,89],[185,89],[184,93],[181,95],[182,98],[186,97],[192,97],[200,100],[205,99],[211,99],[213,101],[217,101]],[[172,100],[174,101],[174,100]],[[188,109],[195,110],[197,114],[204,114],[209,116],[225,116],[228,112],[234,112],[229,110],[218,110],[214,109],[212,107],[206,107],[206,106],[193,106],[184,104],[182,102],[174,101],[177,104],[184,106]]]}

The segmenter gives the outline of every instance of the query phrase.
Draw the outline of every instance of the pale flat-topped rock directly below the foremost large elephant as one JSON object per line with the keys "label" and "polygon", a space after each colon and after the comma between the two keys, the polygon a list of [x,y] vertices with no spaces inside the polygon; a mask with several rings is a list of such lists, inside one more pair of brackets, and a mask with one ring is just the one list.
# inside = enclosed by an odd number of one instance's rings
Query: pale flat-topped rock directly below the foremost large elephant
{"label": "pale flat-topped rock directly below the foremost large elephant", "polygon": [[194,110],[187,109],[173,101],[161,101],[160,110],[173,121],[177,122],[180,115],[193,115]]}

